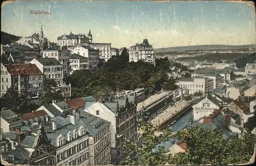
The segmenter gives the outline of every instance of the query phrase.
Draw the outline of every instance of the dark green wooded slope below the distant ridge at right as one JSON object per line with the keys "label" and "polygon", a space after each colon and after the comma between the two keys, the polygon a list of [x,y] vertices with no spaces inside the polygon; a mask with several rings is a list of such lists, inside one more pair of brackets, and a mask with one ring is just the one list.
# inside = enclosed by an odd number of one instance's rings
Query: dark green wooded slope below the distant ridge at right
{"label": "dark green wooded slope below the distant ridge at right", "polygon": [[195,56],[195,57],[181,57],[177,58],[176,60],[199,60],[203,61],[207,59],[208,61],[212,62],[219,62],[220,60],[224,59],[227,61],[234,61],[238,58],[244,58],[248,56],[249,54],[247,53],[215,53],[215,54],[205,54],[205,55],[200,55],[200,56]]}

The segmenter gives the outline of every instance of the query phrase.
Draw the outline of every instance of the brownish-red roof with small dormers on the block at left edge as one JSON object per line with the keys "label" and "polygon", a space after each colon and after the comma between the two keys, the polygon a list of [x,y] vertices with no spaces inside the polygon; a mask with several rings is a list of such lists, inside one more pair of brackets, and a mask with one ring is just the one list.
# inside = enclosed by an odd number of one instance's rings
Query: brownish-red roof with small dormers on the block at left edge
{"label": "brownish-red roof with small dormers on the block at left edge", "polygon": [[10,75],[43,75],[35,64],[5,64]]}

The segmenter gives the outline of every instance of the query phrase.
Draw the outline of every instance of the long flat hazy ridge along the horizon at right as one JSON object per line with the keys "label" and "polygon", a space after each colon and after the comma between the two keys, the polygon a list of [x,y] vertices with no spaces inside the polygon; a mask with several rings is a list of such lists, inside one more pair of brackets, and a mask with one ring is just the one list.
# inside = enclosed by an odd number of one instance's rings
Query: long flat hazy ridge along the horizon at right
{"label": "long flat hazy ridge along the horizon at right", "polygon": [[156,53],[185,52],[185,51],[220,51],[220,50],[248,50],[256,45],[189,45],[155,49]]}

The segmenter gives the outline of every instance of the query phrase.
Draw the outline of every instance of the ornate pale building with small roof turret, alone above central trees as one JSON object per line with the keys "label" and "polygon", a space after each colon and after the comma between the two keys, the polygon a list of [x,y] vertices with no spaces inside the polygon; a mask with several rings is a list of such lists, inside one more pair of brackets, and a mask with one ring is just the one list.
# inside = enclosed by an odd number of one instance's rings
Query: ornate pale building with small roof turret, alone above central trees
{"label": "ornate pale building with small roof turret, alone above central trees", "polygon": [[130,47],[129,50],[129,61],[137,62],[143,60],[144,62],[156,65],[155,52],[147,39],[144,39],[141,44],[136,44]]}

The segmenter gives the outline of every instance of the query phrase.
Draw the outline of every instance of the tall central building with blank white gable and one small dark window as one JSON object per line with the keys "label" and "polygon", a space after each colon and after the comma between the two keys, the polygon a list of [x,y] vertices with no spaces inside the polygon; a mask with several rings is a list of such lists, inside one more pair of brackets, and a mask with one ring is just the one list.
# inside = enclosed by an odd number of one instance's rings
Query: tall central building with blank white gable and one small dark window
{"label": "tall central building with blank white gable and one small dark window", "polygon": [[86,112],[103,118],[111,123],[111,162],[118,164],[123,161],[127,152],[124,149],[124,139],[137,142],[137,110],[136,95],[121,96],[119,98],[84,98],[88,103]]}

